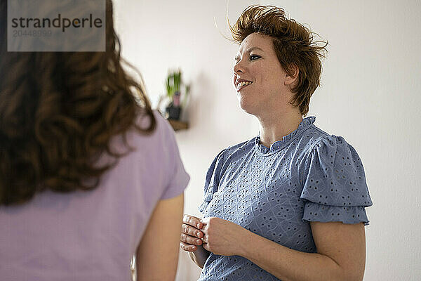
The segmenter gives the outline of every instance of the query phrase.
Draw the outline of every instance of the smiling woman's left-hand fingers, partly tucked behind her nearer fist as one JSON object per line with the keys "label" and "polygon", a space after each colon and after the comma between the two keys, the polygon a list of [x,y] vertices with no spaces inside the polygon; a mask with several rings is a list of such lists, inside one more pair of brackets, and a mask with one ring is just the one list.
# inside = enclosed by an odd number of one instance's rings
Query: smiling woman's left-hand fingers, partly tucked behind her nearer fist
{"label": "smiling woman's left-hand fingers, partly tucked behind her nearer fist", "polygon": [[185,251],[196,251],[197,247],[202,244],[203,223],[196,216],[182,216],[180,248]]}

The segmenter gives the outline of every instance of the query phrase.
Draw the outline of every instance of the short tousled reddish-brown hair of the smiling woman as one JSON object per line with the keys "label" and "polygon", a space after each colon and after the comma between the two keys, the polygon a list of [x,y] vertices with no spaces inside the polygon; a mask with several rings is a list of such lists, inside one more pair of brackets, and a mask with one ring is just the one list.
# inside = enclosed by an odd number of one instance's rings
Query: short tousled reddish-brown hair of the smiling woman
{"label": "short tousled reddish-brown hair of the smiling woman", "polygon": [[[327,41],[314,41],[314,32],[286,18],[285,11],[275,6],[248,6],[234,26],[229,25],[229,28],[238,44],[252,33],[272,37],[274,51],[283,70],[294,76],[293,66],[299,69],[297,82],[291,89],[295,95],[290,104],[299,107],[302,116],[306,116],[310,97],[320,85],[321,58],[327,51]],[[320,43],[321,46],[318,45]]]}

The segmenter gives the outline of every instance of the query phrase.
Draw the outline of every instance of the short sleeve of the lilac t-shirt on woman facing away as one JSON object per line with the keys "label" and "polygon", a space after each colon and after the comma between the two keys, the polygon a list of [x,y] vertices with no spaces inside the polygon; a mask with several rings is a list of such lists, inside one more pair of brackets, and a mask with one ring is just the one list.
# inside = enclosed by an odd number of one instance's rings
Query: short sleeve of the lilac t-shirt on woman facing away
{"label": "short sleeve of the lilac t-shirt on woman facing away", "polygon": [[182,164],[180,152],[178,151],[178,145],[175,141],[174,131],[171,125],[162,117],[158,118],[161,119],[157,120],[157,122],[160,123],[159,125],[165,128],[163,136],[167,144],[166,155],[168,157],[168,180],[166,189],[163,190],[163,194],[161,196],[161,200],[163,200],[180,195],[187,187],[190,177]]}

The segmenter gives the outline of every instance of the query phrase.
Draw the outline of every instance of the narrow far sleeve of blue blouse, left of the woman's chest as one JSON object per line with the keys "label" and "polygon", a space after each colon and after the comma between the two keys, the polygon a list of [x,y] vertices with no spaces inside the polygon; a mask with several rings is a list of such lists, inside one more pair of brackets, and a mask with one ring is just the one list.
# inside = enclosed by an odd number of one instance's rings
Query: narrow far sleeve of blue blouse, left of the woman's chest
{"label": "narrow far sleeve of blue blouse, left of the woman's chest", "polygon": [[224,152],[225,150],[219,152],[215,159],[213,159],[213,162],[210,164],[208,172],[206,173],[205,187],[203,191],[203,202],[199,206],[199,211],[202,214],[212,200],[213,194],[218,191],[220,176],[222,174],[222,164],[224,163]]}

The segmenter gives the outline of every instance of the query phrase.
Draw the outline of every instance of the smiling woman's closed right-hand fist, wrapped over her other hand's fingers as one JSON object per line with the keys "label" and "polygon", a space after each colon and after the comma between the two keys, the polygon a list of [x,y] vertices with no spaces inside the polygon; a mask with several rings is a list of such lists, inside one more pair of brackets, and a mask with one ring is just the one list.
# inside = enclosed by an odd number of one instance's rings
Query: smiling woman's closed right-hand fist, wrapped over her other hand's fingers
{"label": "smiling woman's closed right-hand fist, wrapped over her other hand's fingers", "polygon": [[248,230],[222,218],[203,218],[203,248],[213,254],[233,256],[241,254]]}

